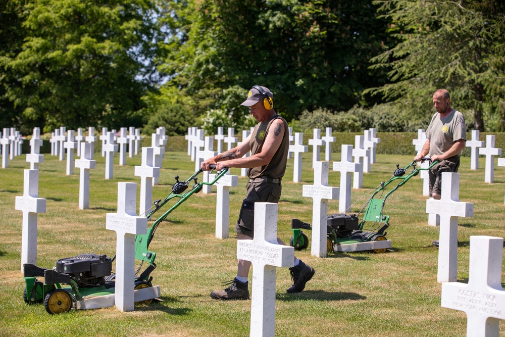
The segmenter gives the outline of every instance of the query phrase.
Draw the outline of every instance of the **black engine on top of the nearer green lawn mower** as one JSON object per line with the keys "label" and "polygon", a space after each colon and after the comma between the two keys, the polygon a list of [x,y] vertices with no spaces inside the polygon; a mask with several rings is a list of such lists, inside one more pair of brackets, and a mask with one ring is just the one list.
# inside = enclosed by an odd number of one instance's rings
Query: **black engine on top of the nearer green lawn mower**
{"label": "black engine on top of the nearer green lawn mower", "polygon": [[[106,277],[112,273],[112,259],[107,255],[80,254],[56,262],[56,270],[46,272],[46,283],[70,283],[74,279],[80,287],[105,285]],[[49,278],[49,279],[48,279]],[[51,279],[54,278],[54,279]]]}

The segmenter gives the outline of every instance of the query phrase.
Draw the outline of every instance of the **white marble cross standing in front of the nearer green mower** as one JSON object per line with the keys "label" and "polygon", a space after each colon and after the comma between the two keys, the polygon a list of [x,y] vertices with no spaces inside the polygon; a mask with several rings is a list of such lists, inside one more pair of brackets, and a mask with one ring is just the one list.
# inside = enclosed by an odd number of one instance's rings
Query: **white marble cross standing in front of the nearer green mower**
{"label": "white marble cross standing in front of the nearer green mower", "polygon": [[107,213],[106,228],[117,235],[115,304],[121,311],[135,308],[135,235],[147,233],[147,218],[137,216],[136,205],[137,184],[119,182],[118,211]]}

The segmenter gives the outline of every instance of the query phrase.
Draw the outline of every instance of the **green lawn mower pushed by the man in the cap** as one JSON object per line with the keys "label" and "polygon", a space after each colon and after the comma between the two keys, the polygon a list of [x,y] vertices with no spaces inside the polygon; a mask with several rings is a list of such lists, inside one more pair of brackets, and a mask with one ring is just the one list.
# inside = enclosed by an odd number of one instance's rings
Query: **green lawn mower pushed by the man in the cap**
{"label": "green lawn mower pushed by the man in the cap", "polygon": [[[157,291],[153,289],[151,283],[153,277],[150,276],[156,268],[156,253],[148,249],[158,225],[189,197],[199,192],[204,185],[215,184],[227,171],[228,169],[224,169],[218,172],[210,182],[199,183],[196,176],[203,172],[202,170],[196,171],[184,181],[179,181],[179,176],[176,175],[176,182],[170,194],[163,201],[155,201],[154,209],[145,215],[146,218],[150,218],[169,200],[179,198],[174,206],[147,229],[146,234],[135,237],[135,259],[139,261],[139,266],[135,271],[135,304],[149,304],[159,297],[159,286],[156,286]],[[194,181],[194,185],[186,191],[191,181]],[[112,264],[115,258],[115,256],[110,258],[105,254],[86,253],[60,259],[53,269],[40,268],[31,263],[24,264],[26,288],[23,291],[23,300],[27,304],[43,303],[49,314],[67,312],[71,308],[92,309],[112,306],[115,292],[115,274],[112,272]],[[144,262],[148,263],[148,266],[140,272]],[[43,278],[43,281],[38,280],[37,277]],[[112,305],[110,305],[111,301]]]}

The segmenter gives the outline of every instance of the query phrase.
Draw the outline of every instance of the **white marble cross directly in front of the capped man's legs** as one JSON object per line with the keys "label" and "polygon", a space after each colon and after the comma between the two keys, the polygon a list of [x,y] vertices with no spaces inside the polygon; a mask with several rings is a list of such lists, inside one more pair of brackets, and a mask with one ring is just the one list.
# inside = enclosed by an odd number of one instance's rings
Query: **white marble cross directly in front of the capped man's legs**
{"label": "white marble cross directly in front of the capped man's legs", "polygon": [[275,271],[292,267],[294,247],[277,242],[277,204],[255,204],[254,239],[237,240],[237,258],[252,262],[250,337],[275,336]]}

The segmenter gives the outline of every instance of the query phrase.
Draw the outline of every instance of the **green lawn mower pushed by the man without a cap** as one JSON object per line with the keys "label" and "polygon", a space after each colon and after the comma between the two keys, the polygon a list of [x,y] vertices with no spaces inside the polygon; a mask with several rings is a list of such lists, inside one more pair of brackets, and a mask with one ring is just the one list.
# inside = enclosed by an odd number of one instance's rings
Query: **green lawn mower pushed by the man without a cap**
{"label": "green lawn mower pushed by the man without a cap", "polygon": [[[429,157],[422,159],[430,160]],[[419,174],[421,170],[429,170],[438,161],[434,161],[428,168],[416,168],[416,162],[413,161],[405,168],[399,168],[396,164],[396,170],[389,180],[381,182],[375,188],[372,196],[358,215],[336,213],[328,215],[327,217],[327,253],[329,252],[359,252],[371,251],[375,253],[384,253],[388,248],[391,248],[391,240],[386,238],[386,229],[389,227],[389,216],[382,213],[386,199],[398,188],[403,186],[412,177]],[[413,167],[410,174],[405,175],[407,169]],[[384,196],[386,187],[393,181],[398,182],[387,194]],[[379,196],[379,193],[380,196]],[[362,220],[359,220],[360,215],[365,210]],[[289,244],[295,250],[303,250],[309,246],[309,238],[302,231],[302,229],[312,230],[310,223],[302,222],[298,219],[291,220],[291,229],[293,235]]]}

